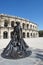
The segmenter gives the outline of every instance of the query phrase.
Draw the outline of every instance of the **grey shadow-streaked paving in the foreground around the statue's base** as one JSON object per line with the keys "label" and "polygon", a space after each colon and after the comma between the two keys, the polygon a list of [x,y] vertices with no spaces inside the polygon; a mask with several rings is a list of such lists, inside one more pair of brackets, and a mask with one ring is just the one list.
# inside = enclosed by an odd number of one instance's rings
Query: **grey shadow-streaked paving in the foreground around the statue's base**
{"label": "grey shadow-streaked paving in the foreground around the statue's base", "polygon": [[43,50],[31,49],[32,54],[22,59],[5,59],[1,57],[2,51],[0,49],[0,65],[43,65]]}

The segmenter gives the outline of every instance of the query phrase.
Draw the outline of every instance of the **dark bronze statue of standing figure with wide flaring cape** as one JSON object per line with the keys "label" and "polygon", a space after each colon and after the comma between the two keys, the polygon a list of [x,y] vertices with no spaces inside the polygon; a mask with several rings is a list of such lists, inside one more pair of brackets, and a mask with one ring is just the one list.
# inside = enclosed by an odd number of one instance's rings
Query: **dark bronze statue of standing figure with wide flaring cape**
{"label": "dark bronze statue of standing figure with wide flaring cape", "polygon": [[14,26],[12,39],[2,53],[2,57],[4,58],[24,58],[31,54],[30,50],[27,51],[29,47],[22,38],[20,23],[16,22],[16,24],[17,25]]}

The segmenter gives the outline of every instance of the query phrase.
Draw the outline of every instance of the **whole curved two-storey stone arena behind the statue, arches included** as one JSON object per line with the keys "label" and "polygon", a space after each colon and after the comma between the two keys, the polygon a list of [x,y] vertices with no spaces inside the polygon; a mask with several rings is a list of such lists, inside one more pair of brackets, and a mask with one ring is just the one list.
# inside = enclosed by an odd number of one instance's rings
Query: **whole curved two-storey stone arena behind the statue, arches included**
{"label": "whole curved two-storey stone arena behind the statue, arches included", "polygon": [[36,38],[39,36],[36,23],[17,16],[0,14],[0,39],[12,38],[12,31],[16,22],[20,22],[23,38]]}

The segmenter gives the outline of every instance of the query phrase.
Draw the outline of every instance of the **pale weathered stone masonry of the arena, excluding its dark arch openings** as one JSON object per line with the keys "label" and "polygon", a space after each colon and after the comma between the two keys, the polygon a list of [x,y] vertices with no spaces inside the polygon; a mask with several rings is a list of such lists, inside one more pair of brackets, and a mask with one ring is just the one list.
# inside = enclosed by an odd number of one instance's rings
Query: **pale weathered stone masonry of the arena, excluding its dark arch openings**
{"label": "pale weathered stone masonry of the arena, excluding its dark arch openings", "polygon": [[[4,26],[4,22],[5,20],[7,20],[8,22],[8,26],[5,27]],[[14,16],[9,16],[9,15],[0,15],[0,39],[3,39],[3,32],[4,31],[7,31],[8,32],[8,39],[10,39],[11,35],[10,33],[13,31],[13,28],[11,27],[11,22],[14,21],[14,25],[16,21],[19,21],[20,22],[20,25],[22,27],[22,30],[23,32],[25,33],[25,38],[27,38],[27,33],[29,33],[29,37],[33,38],[33,37],[38,37],[38,26],[37,24],[29,21],[29,20],[26,20],[24,18],[20,18],[20,17],[14,17]],[[24,29],[23,29],[23,23],[25,24],[24,26]],[[27,29],[27,24],[29,25],[28,26],[28,29]],[[32,27],[30,27],[32,25]],[[33,27],[34,26],[34,27]],[[31,36],[31,33],[32,33],[32,36]],[[36,35],[37,33],[37,35]],[[35,36],[33,36],[33,34],[35,34]]]}

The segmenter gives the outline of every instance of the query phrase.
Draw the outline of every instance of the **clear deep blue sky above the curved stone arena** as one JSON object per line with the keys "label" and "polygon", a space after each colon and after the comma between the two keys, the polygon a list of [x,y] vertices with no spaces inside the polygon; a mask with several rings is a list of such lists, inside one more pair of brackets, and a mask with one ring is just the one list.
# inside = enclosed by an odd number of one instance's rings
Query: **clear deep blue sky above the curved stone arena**
{"label": "clear deep blue sky above the curved stone arena", "polygon": [[0,14],[29,19],[43,30],[43,0],[0,0]]}

